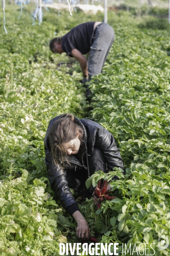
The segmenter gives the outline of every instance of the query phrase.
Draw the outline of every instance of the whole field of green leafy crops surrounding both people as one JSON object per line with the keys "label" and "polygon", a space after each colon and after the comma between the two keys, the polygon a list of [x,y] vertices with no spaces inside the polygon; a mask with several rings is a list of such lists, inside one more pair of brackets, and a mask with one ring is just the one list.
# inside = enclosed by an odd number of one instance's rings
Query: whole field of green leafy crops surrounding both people
{"label": "whole field of green leafy crops surrounding both people", "polygon": [[[124,159],[125,176],[119,169],[106,175],[119,176],[111,183],[117,198],[97,212],[92,199],[79,205],[91,234],[99,242],[119,242],[119,255],[122,243],[154,243],[154,255],[170,255],[170,247],[158,247],[159,236],[170,238],[169,30],[109,12],[116,40],[103,73],[90,83],[89,103],[78,62],[52,54],[48,44],[80,20],[102,21],[103,15],[44,11],[43,23],[32,26],[29,8],[18,20],[19,8],[6,6],[7,35],[0,23],[0,255],[55,256],[59,242],[81,242],[76,223],[54,200],[44,161],[48,122],[62,113],[102,124]],[[101,177],[96,173],[87,185]]]}

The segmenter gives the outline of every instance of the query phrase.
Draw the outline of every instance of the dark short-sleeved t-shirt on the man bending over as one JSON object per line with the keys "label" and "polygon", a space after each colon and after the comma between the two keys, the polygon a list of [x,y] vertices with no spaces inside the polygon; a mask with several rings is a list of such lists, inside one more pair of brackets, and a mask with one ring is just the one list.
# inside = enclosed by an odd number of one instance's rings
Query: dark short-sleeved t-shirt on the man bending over
{"label": "dark short-sleeved t-shirt on the man bending over", "polygon": [[64,35],[62,38],[63,51],[71,57],[71,51],[73,49],[79,50],[82,54],[90,52],[94,23],[95,21],[82,23]]}

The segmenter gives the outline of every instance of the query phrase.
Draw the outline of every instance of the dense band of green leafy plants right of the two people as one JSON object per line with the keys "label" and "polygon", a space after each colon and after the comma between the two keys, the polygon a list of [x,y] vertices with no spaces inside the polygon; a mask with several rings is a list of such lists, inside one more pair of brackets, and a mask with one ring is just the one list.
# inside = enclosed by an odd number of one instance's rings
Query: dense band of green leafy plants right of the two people
{"label": "dense band of green leafy plants right of the two people", "polygon": [[[107,227],[101,241],[155,243],[156,256],[169,255],[157,246],[159,236],[170,238],[170,57],[163,47],[169,35],[132,24],[114,28],[108,63],[91,81],[91,112],[113,134],[126,173],[111,182],[117,198],[96,212]],[[111,175],[97,173],[87,183]]]}

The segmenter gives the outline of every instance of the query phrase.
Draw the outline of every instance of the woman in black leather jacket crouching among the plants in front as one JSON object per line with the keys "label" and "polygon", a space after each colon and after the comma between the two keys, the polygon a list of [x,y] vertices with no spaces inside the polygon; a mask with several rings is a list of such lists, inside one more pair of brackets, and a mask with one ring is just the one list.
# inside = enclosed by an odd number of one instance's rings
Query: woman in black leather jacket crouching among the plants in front
{"label": "woman in black leather jacket crouching among the plants in front", "polygon": [[[76,235],[88,239],[88,223],[69,188],[79,191],[81,183],[96,171],[124,169],[114,138],[94,121],[62,114],[49,122],[44,145],[51,188],[62,207],[77,221]],[[85,189],[85,196],[90,198],[93,191],[93,186]]]}

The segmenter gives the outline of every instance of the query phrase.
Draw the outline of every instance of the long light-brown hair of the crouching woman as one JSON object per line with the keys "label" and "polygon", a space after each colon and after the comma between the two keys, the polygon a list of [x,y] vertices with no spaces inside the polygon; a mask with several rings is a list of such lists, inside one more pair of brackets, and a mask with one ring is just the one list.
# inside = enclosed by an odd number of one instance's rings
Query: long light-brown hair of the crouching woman
{"label": "long light-brown hair of the crouching woman", "polygon": [[51,146],[53,163],[57,166],[65,167],[65,161],[69,163],[70,155],[63,143],[68,143],[77,137],[77,131],[79,131],[79,140],[82,143],[83,129],[81,126],[74,122],[74,116],[67,114],[65,117],[57,119],[51,125],[49,130],[48,138]]}

